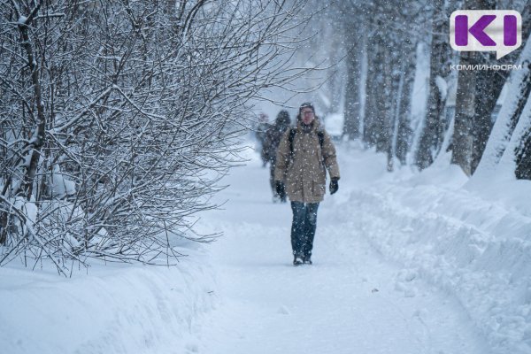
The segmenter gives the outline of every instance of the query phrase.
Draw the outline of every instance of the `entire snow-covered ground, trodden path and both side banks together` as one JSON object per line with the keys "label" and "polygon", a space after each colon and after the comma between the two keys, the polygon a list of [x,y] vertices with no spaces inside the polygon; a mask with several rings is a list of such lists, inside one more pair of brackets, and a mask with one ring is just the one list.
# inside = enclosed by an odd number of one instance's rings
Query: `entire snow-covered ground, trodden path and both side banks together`
{"label": "entire snow-covered ground, trodden path and both side banks together", "polygon": [[0,352],[531,352],[531,182],[479,189],[444,161],[386,173],[342,146],[314,264],[294,267],[289,204],[248,158],[198,225],[225,235],[178,267],[0,268]]}

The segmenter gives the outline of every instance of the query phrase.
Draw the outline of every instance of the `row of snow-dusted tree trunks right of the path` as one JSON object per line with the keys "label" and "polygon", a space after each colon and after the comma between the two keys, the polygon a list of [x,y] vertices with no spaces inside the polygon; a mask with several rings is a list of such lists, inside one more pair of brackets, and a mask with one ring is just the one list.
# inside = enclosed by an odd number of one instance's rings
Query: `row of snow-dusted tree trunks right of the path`
{"label": "row of snow-dusted tree trunks right of the path", "polygon": [[[500,60],[494,52],[459,55],[449,41],[450,14],[458,9],[519,11],[524,24],[522,46]],[[329,72],[329,82],[339,77],[344,89],[330,84],[323,88],[327,96],[343,97],[342,104],[331,100],[324,111],[343,109],[345,137],[386,153],[389,170],[396,162],[424,169],[450,151],[451,162],[472,175],[482,157],[495,154],[496,158],[483,158],[492,164],[507,153],[515,161],[512,173],[530,178],[528,134],[514,135],[517,125],[528,120],[524,108],[531,88],[531,57],[524,47],[531,30],[530,2],[350,0],[327,6],[316,23],[320,33],[327,25],[335,27],[333,41],[329,35],[320,40],[329,53],[344,56],[339,70]],[[450,70],[450,65],[458,64],[519,64],[522,70]],[[517,97],[506,100],[498,113],[496,102],[506,83],[509,96]],[[455,106],[449,107],[456,90]],[[503,133],[497,132],[500,129]],[[495,135],[503,138],[495,142]],[[505,151],[512,139],[517,142]],[[489,140],[496,148],[484,153]]]}

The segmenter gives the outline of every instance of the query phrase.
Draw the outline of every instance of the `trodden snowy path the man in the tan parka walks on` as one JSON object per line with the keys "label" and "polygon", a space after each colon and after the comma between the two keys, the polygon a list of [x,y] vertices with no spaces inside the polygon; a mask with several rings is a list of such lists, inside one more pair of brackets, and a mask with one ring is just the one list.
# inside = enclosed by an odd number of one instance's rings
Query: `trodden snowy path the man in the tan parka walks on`
{"label": "trodden snowy path the man in the tan parka walks on", "polygon": [[457,299],[383,258],[336,218],[350,191],[381,171],[358,171],[340,154],[340,190],[319,207],[314,265],[294,267],[289,204],[270,202],[268,170],[250,158],[227,177],[230,187],[219,196],[229,199],[225,210],[203,220],[225,235],[210,246],[220,301],[196,350],[489,353]]}

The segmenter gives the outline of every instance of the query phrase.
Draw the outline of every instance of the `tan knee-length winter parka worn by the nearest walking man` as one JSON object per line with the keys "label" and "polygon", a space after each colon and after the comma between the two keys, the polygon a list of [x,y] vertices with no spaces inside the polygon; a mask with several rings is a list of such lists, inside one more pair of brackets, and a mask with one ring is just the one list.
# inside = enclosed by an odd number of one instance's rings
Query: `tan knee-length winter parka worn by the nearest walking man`
{"label": "tan knee-length winter parka worn by the nearest walking man", "polygon": [[[293,154],[289,143],[289,130],[282,135],[277,151],[274,180],[283,181],[289,200],[292,202],[318,203],[326,191],[327,171],[330,178],[339,179],[339,166],[335,158],[335,147],[330,135],[320,127],[315,117],[312,127],[303,127],[298,122],[293,138]],[[323,147],[319,143],[318,131],[323,131]]]}

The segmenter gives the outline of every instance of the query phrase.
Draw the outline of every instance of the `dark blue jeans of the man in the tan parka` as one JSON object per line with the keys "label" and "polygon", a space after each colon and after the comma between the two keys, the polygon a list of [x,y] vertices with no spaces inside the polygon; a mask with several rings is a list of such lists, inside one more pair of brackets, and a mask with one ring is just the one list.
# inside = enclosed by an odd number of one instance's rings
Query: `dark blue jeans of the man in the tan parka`
{"label": "dark blue jeans of the man in the tan parka", "polygon": [[313,237],[317,227],[319,203],[291,202],[293,222],[291,223],[291,248],[294,256],[312,256]]}

